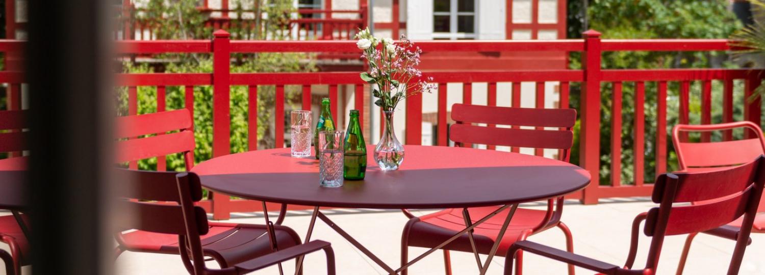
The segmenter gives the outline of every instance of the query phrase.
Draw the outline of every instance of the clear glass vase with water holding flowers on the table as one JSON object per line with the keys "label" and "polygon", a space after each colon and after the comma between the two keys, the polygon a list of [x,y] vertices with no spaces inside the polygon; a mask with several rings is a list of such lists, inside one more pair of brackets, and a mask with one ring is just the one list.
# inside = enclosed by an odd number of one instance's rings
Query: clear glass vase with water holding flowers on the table
{"label": "clear glass vase with water holding flowers on the table", "polygon": [[383,112],[385,115],[385,131],[375,147],[375,161],[380,170],[398,170],[404,161],[404,146],[396,138],[393,131],[393,112]]}

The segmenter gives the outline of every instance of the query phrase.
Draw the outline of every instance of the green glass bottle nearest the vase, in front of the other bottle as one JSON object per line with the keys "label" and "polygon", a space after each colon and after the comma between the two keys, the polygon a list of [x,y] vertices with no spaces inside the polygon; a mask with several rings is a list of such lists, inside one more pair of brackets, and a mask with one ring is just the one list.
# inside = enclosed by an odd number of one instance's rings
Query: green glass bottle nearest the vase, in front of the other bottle
{"label": "green glass bottle nearest the vase, in front of the other bottle", "polygon": [[366,173],[366,144],[359,124],[359,110],[350,110],[343,147],[343,178],[363,180]]}

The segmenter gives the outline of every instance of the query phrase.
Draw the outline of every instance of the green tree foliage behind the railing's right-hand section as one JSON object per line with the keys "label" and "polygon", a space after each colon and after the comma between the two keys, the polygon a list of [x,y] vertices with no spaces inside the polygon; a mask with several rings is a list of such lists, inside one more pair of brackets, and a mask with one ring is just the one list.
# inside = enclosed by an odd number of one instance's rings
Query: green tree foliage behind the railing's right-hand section
{"label": "green tree foliage behind the railing's right-hand section", "polygon": [[[601,32],[604,39],[659,39],[659,38],[726,38],[741,27],[731,11],[727,0],[590,0],[588,2],[588,28]],[[581,37],[584,18],[581,13],[582,1],[568,1],[568,35]],[[579,29],[576,29],[579,27]],[[581,68],[581,55],[571,53],[571,69]],[[709,68],[734,66],[727,53],[723,52],[647,52],[625,51],[603,54],[603,69],[666,69],[666,68]],[[742,85],[736,82],[736,91]],[[578,108],[581,86],[571,86],[571,105]],[[634,161],[634,89],[632,82],[623,84],[622,97],[622,184],[633,182]],[[645,90],[645,179],[651,181],[655,175],[656,160],[656,82],[646,82]],[[722,85],[713,82],[713,106],[721,105]],[[677,170],[672,148],[671,128],[678,122],[679,83],[668,82],[667,89],[667,170]],[[692,82],[690,122],[699,123],[701,83]],[[736,102],[741,102],[741,92],[734,93]],[[601,85],[601,183],[610,183],[610,137],[611,106],[613,86]],[[741,105],[735,105],[734,117],[743,112]],[[712,121],[721,121],[721,108],[712,108]],[[578,141],[576,141],[578,142]],[[578,162],[578,144],[571,160]]]}

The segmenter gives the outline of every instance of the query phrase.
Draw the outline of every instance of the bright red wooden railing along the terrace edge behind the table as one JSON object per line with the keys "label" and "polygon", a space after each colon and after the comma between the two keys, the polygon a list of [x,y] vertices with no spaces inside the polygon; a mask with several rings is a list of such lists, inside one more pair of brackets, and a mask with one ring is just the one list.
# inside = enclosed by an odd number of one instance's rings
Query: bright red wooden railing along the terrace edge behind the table
{"label": "bright red wooden railing along the terrace edge behind the table", "polygon": [[[645,146],[645,122],[644,112],[646,82],[656,82],[657,86],[657,118],[656,118],[656,173],[666,171],[667,160],[667,108],[679,108],[679,121],[688,122],[688,87],[691,82],[702,82],[702,123],[711,123],[711,82],[721,81],[724,90],[723,96],[723,120],[733,120],[733,105],[746,105],[744,118],[749,121],[760,123],[761,104],[757,102],[733,102],[733,81],[744,79],[747,83],[745,94],[750,95],[760,83],[760,70],[730,70],[730,69],[662,69],[662,70],[602,70],[601,55],[606,51],[710,51],[730,50],[727,40],[601,40],[597,32],[588,32],[584,40],[552,40],[552,41],[418,41],[425,53],[431,52],[581,52],[583,70],[524,70],[524,71],[454,71],[425,73],[432,76],[438,82],[438,128],[437,144],[448,145],[447,127],[447,94],[449,92],[446,83],[462,83],[463,102],[471,103],[473,85],[475,82],[487,82],[487,104],[497,105],[497,82],[512,82],[512,102],[509,105],[519,106],[521,102],[521,82],[535,82],[535,106],[545,108],[545,86],[558,85],[560,96],[558,108],[568,107],[568,92],[571,83],[581,82],[581,106],[579,115],[581,118],[580,131],[580,159],[581,167],[591,171],[592,184],[584,189],[580,198],[584,203],[597,203],[597,199],[606,197],[624,196],[647,196],[652,186],[646,182],[653,179],[643,179],[645,160],[643,157],[635,157],[633,166],[633,184],[622,184],[620,173],[611,173],[610,183],[600,182],[601,169],[601,86],[605,82],[613,83],[613,105],[610,112],[613,118],[608,121],[610,130],[610,170],[620,171],[623,165],[620,160],[622,140],[622,86],[627,82],[633,82],[636,86],[634,97],[635,125],[634,151],[635,156],[644,156]],[[149,74],[123,74],[120,77],[120,85],[128,86],[131,91],[129,96],[130,113],[135,114],[136,86],[186,86],[187,102],[189,108],[193,108],[193,96],[189,96],[193,86],[213,86],[213,156],[229,154],[229,87],[248,86],[250,95],[256,95],[259,86],[275,86],[275,113],[285,112],[285,85],[302,86],[303,108],[311,108],[311,85],[329,86],[331,102],[337,102],[337,89],[342,85],[355,87],[355,107],[363,111],[363,90],[366,83],[359,79],[358,72],[340,73],[229,73],[229,58],[231,53],[257,53],[257,52],[312,52],[312,53],[348,53],[356,51],[353,41],[241,41],[229,40],[225,32],[216,32],[212,41],[127,41],[120,44],[120,53],[146,54],[146,53],[213,53],[213,73],[149,73]],[[214,49],[214,50],[213,50]],[[550,82],[559,82],[551,84]],[[679,106],[667,106],[667,83],[679,82],[680,98]],[[164,90],[164,89],[158,89]],[[459,92],[459,91],[457,91]],[[159,97],[158,97],[159,98]],[[249,98],[250,120],[256,123],[256,96]],[[549,106],[548,106],[549,107]],[[333,115],[337,118],[337,105],[332,106]],[[422,137],[422,95],[412,96],[406,101],[406,144],[420,144]],[[368,117],[363,123],[369,123]],[[722,122],[715,121],[715,122]],[[276,147],[285,144],[285,121],[283,115],[275,115],[275,139]],[[250,148],[256,148],[257,125],[250,123],[249,133]],[[730,138],[726,136],[725,138]],[[492,148],[490,148],[492,149]],[[251,149],[253,150],[253,149]],[[512,148],[518,151],[519,148]],[[535,154],[542,154],[542,150],[536,150]],[[247,201],[229,201],[227,196],[216,196],[214,199],[214,215],[216,218],[226,218],[229,212],[252,211],[258,205]]]}

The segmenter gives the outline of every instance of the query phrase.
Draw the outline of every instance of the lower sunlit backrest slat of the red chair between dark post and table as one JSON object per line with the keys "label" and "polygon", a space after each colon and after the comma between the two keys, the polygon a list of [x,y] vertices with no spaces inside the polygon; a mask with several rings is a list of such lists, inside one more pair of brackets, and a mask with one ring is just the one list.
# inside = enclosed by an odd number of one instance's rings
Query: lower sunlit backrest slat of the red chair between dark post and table
{"label": "lower sunlit backrest slat of the red chair between dark post and table", "polygon": [[196,146],[194,133],[191,131],[119,141],[118,145],[116,161],[118,163],[189,152],[193,151],[194,146]]}

